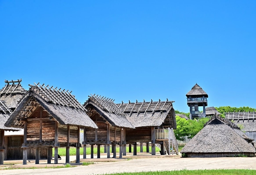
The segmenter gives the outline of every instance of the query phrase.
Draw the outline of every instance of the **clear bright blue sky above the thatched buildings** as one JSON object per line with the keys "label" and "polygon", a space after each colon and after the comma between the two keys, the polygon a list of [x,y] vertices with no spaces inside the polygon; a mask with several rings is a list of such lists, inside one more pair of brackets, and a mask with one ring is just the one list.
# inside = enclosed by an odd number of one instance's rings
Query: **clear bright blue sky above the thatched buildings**
{"label": "clear bright blue sky above the thatched buildings", "polygon": [[256,1],[0,0],[0,88],[40,82],[115,102],[255,103]]}

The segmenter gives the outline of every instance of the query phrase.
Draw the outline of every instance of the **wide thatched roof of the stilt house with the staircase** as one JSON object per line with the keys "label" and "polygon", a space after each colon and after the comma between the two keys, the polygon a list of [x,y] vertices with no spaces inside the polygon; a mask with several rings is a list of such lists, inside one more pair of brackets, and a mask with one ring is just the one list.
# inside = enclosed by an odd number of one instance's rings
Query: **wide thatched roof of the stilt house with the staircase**
{"label": "wide thatched roof of the stilt house with the staircase", "polygon": [[174,101],[150,101],[117,104],[126,114],[128,121],[137,127],[161,126],[162,124],[176,129],[175,111],[172,107]]}

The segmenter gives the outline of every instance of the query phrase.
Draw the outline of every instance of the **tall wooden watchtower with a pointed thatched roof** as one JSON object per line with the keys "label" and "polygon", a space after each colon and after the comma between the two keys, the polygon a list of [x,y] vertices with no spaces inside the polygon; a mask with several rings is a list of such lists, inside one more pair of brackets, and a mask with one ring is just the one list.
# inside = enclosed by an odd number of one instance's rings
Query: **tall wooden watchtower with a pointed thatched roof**
{"label": "tall wooden watchtower with a pointed thatched roof", "polygon": [[[205,106],[207,106],[207,93],[195,84],[187,93],[187,104],[189,106],[190,119],[205,117]],[[198,110],[198,106],[203,106],[203,113]]]}

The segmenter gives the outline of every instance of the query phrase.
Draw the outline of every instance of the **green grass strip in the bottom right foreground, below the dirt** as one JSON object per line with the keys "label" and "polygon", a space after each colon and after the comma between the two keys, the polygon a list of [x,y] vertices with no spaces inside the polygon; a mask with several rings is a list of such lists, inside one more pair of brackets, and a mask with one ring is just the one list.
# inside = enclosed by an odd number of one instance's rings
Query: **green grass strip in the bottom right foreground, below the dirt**
{"label": "green grass strip in the bottom right foreground, below the dirt", "polygon": [[[180,170],[180,171],[149,171],[149,172],[122,172],[111,175],[252,175],[256,170]],[[107,175],[107,174],[105,174]]]}

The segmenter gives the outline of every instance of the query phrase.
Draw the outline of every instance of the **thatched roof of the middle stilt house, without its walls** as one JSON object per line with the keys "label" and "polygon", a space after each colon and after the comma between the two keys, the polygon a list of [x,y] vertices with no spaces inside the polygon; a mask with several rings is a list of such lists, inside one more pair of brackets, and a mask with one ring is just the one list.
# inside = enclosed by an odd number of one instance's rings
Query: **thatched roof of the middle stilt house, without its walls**
{"label": "thatched roof of the middle stilt house, without its walls", "polygon": [[109,124],[120,128],[134,128],[126,119],[126,115],[116,106],[114,101],[104,96],[89,96],[90,98],[84,103],[84,107],[90,115],[92,110],[96,110]]}

